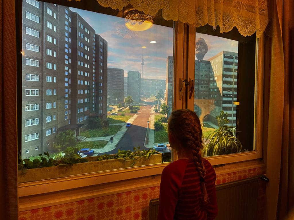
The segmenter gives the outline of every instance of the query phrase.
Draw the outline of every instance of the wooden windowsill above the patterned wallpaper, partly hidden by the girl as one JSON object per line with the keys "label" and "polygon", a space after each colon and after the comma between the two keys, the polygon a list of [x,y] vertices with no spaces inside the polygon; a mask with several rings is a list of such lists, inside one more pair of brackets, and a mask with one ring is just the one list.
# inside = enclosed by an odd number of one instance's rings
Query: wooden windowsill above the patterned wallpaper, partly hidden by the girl
{"label": "wooden windowsill above the patterned wallpaper, partly hidden by the girl", "polygon": [[[159,186],[161,172],[167,164],[20,183],[19,211]],[[265,166],[256,159],[216,166],[215,170],[218,176]]]}

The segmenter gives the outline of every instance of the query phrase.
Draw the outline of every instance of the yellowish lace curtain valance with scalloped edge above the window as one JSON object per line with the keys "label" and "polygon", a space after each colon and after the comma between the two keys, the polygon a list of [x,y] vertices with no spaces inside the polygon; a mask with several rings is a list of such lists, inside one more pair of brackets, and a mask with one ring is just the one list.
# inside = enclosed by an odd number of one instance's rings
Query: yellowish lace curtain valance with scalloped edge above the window
{"label": "yellowish lace curtain valance with scalloped edge above the window", "polygon": [[131,4],[135,9],[151,16],[162,9],[162,17],[166,20],[181,21],[196,27],[206,24],[213,27],[220,26],[221,33],[236,27],[243,36],[252,35],[256,31],[257,37],[260,37],[268,24],[267,0],[96,1],[103,7],[119,10]]}

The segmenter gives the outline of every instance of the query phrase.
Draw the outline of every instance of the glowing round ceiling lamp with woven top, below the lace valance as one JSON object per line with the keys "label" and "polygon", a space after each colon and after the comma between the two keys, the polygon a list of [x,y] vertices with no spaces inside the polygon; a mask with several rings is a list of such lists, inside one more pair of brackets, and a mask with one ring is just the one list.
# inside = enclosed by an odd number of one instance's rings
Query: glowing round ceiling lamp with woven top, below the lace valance
{"label": "glowing round ceiling lamp with woven top, below the lace valance", "polygon": [[134,8],[126,9],[123,17],[126,18],[126,27],[131,31],[146,31],[153,26],[152,16]]}

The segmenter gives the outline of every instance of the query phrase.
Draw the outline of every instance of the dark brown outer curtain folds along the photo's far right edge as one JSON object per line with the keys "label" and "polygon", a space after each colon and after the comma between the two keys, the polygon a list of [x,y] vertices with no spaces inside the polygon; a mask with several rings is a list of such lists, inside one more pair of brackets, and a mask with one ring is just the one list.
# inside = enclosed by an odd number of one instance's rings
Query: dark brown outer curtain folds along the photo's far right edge
{"label": "dark brown outer curtain folds along the photo's far right edge", "polygon": [[[281,171],[277,219],[285,219],[294,209],[294,2],[283,1],[283,50],[285,66],[285,92]],[[290,217],[290,216],[289,216]],[[294,219],[294,216],[291,216]]]}

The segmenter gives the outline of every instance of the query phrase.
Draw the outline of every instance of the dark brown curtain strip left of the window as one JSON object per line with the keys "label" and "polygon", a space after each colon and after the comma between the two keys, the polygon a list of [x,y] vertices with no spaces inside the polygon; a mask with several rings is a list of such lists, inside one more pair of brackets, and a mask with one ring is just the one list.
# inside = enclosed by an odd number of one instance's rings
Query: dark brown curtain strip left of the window
{"label": "dark brown curtain strip left of the window", "polygon": [[0,213],[17,219],[15,1],[0,0]]}

